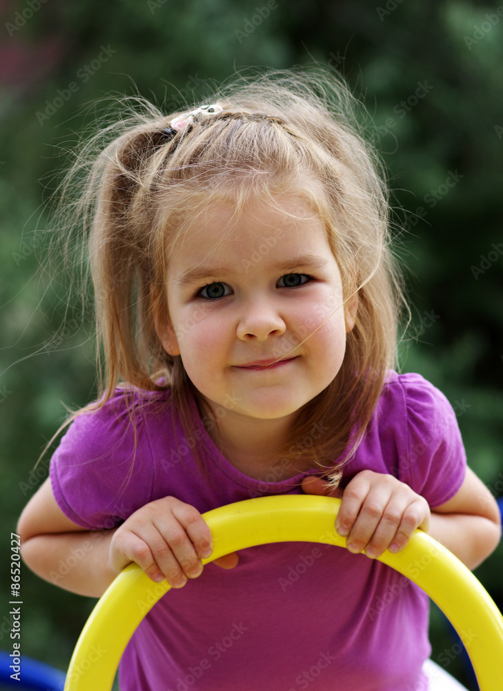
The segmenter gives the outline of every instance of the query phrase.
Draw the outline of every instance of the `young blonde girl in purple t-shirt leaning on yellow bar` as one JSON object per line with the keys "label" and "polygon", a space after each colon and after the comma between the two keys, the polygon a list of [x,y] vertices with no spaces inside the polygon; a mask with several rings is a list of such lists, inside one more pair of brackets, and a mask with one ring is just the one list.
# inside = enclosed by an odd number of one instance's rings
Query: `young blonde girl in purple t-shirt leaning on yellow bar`
{"label": "young blonde girl in purple t-shirt leaning on yellow bar", "polygon": [[[439,668],[428,685],[428,598],[375,557],[421,528],[473,568],[499,515],[446,398],[391,369],[384,184],[344,86],[313,81],[152,106],[83,193],[106,386],[19,533],[28,566],[77,593],[130,562],[175,588],[126,648],[121,691],[460,688]],[[348,550],[264,545],[203,571],[201,513],[303,492],[342,497]]]}

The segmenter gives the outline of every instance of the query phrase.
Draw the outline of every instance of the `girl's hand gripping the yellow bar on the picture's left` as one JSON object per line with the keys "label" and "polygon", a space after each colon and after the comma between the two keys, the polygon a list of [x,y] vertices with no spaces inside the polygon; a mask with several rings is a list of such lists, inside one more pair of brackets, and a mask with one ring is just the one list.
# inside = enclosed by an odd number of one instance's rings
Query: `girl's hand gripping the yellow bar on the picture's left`
{"label": "girl's hand gripping the yellow bar on the picture's left", "polygon": [[[110,542],[110,565],[117,573],[137,563],[155,583],[166,580],[181,588],[187,578],[203,570],[201,559],[213,551],[210,529],[197,509],[174,497],[146,504],[115,531]],[[213,563],[233,569],[237,553],[226,554]]]}

